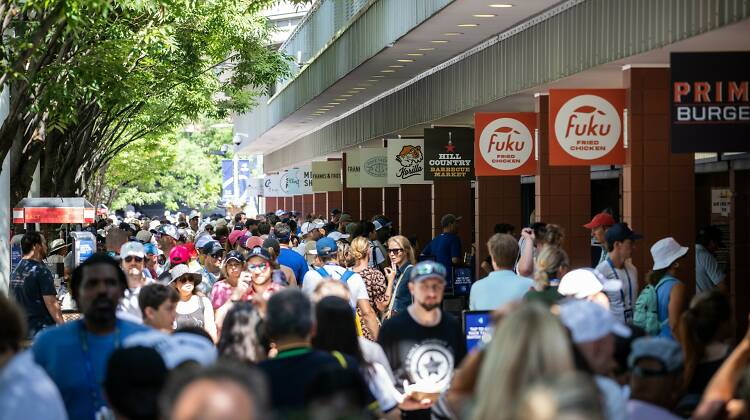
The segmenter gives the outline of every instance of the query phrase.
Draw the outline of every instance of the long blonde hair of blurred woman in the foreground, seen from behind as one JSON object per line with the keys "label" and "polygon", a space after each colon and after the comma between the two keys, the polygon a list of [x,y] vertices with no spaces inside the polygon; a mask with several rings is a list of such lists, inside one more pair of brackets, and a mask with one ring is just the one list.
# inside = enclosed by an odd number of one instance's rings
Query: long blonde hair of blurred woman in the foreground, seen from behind
{"label": "long blonde hair of blurred woman in the foreground, seen from behind", "polygon": [[524,304],[503,318],[484,351],[472,418],[510,419],[529,385],[575,370],[560,321],[544,305]]}

